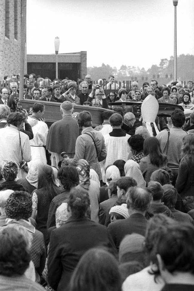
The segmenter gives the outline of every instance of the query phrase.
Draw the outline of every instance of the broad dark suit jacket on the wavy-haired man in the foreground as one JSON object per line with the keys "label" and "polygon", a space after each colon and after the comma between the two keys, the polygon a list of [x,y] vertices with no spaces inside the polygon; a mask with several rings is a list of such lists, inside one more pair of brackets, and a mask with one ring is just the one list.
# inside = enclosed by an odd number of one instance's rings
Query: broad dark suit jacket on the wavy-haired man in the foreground
{"label": "broad dark suit jacket on the wavy-haired man in the foreground", "polygon": [[89,218],[69,219],[50,236],[48,282],[57,291],[68,290],[68,283],[81,256],[90,248],[104,246],[116,252],[106,226]]}

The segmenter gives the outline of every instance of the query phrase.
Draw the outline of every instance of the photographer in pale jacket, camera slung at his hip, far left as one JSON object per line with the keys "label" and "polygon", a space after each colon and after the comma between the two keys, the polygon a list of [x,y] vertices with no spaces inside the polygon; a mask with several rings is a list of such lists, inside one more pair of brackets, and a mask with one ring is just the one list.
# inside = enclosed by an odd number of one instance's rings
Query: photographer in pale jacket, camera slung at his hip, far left
{"label": "photographer in pale jacket, camera slung at his hip, far left", "polygon": [[[0,166],[6,161],[13,161],[20,165],[22,160],[31,160],[29,137],[21,132],[25,117],[20,112],[10,113],[7,117],[7,126],[0,129]],[[23,159],[22,159],[23,156]],[[27,173],[19,167],[18,177],[24,178]]]}

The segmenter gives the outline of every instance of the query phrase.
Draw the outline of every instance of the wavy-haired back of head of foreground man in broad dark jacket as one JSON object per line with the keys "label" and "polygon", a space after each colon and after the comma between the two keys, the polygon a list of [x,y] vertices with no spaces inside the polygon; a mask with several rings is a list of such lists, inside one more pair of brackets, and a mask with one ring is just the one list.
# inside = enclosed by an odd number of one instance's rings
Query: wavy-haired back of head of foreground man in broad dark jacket
{"label": "wavy-haired back of head of foreground man in broad dark jacket", "polygon": [[83,188],[73,188],[67,203],[73,218],[84,218],[90,209],[90,198],[88,192]]}

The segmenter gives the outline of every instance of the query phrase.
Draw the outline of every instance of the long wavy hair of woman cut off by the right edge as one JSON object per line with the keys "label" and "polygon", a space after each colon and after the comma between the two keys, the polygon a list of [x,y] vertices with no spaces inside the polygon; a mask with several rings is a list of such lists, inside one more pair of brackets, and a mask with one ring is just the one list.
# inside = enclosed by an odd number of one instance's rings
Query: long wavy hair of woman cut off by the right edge
{"label": "long wavy hair of woman cut off by the right edge", "polygon": [[[187,167],[191,169],[191,160],[194,163],[194,134],[187,134],[182,138],[181,157]],[[190,160],[191,157],[191,160]]]}

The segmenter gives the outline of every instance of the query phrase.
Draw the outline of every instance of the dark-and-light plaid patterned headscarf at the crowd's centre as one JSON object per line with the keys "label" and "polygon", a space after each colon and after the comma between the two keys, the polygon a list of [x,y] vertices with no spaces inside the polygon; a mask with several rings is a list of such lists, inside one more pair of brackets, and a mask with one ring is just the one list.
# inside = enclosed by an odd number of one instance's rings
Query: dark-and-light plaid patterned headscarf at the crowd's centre
{"label": "dark-and-light plaid patterned headscarf at the crowd's centre", "polygon": [[76,165],[76,169],[79,174],[79,184],[84,188],[84,189],[89,189],[90,187],[90,165],[89,163],[81,159],[78,161]]}

